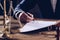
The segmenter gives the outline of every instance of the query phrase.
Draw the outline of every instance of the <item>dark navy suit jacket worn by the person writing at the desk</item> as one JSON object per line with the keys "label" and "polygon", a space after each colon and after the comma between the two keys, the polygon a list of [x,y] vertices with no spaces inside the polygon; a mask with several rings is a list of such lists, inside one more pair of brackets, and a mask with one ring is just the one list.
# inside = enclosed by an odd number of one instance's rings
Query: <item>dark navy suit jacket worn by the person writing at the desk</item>
{"label": "dark navy suit jacket worn by the person writing at the desk", "polygon": [[[38,18],[48,18],[48,19],[60,19],[60,0],[57,0],[55,13],[53,12],[53,8],[50,0],[22,0],[17,7],[15,8],[14,14],[16,14],[16,10],[23,10],[25,12],[29,12],[30,9],[34,8],[34,6],[38,4],[41,13],[33,13],[35,17]],[[18,12],[18,11],[17,11]],[[42,14],[42,17],[40,17]]]}

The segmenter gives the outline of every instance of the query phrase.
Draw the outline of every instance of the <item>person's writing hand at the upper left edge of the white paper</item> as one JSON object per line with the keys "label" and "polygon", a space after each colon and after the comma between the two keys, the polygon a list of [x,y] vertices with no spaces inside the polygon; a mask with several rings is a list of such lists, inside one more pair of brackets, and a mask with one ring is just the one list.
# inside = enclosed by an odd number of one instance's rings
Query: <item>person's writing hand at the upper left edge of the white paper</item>
{"label": "person's writing hand at the upper left edge of the white paper", "polygon": [[30,22],[34,19],[33,15],[31,13],[22,13],[20,16],[20,21],[21,22]]}

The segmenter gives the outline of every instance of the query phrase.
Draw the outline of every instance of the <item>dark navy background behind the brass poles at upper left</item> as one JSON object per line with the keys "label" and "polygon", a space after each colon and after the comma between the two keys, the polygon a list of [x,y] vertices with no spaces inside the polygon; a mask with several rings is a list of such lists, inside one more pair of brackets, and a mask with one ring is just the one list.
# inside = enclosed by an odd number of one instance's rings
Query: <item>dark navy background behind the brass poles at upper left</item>
{"label": "dark navy background behind the brass poles at upper left", "polygon": [[[9,8],[10,8],[10,1],[12,1],[12,5],[13,5],[13,8],[16,7],[16,5],[21,1],[21,0],[6,0],[6,11],[7,11],[7,14],[8,14],[8,11],[9,11]],[[0,3],[2,4],[2,6],[4,7],[4,0],[0,0]],[[4,11],[2,10],[1,6],[0,6],[0,15],[3,15],[4,14]],[[13,13],[12,13],[13,14]]]}

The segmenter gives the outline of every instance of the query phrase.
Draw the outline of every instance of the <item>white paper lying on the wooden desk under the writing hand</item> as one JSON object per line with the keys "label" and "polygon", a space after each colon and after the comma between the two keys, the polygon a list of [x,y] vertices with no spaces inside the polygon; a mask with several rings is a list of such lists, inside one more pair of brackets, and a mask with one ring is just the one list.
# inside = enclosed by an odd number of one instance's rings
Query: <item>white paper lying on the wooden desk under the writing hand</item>
{"label": "white paper lying on the wooden desk under the writing hand", "polygon": [[41,28],[45,28],[51,25],[55,25],[56,21],[31,21],[27,24],[25,24],[22,28],[20,28],[20,32],[29,32],[29,31],[34,31],[38,30]]}

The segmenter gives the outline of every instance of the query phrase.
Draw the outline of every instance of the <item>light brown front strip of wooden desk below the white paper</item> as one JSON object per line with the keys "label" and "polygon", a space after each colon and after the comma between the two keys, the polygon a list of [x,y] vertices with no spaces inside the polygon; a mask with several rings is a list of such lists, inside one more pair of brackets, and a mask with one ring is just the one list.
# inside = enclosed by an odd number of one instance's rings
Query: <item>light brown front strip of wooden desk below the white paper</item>
{"label": "light brown front strip of wooden desk below the white paper", "polygon": [[[51,32],[53,34],[53,32]],[[54,32],[55,33],[55,32]],[[56,40],[54,35],[36,34],[11,34],[11,37],[18,40]]]}

